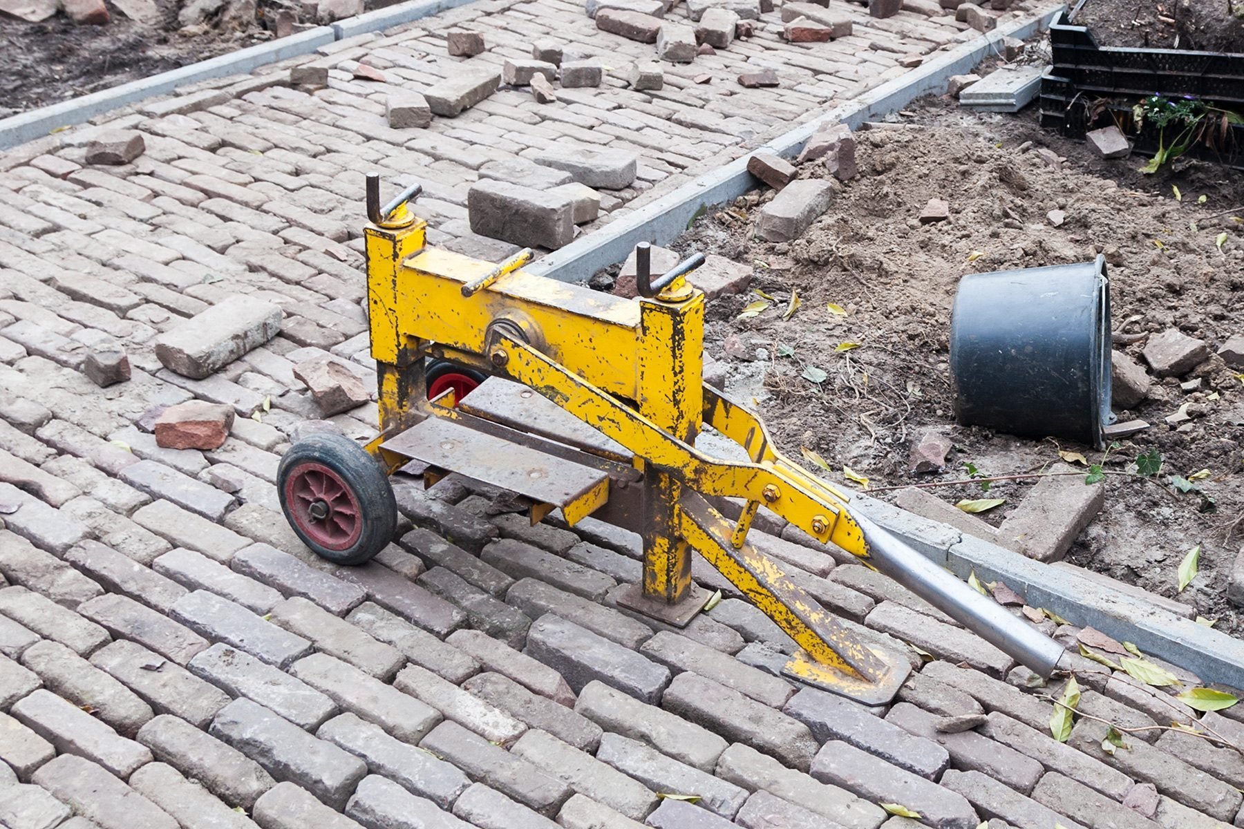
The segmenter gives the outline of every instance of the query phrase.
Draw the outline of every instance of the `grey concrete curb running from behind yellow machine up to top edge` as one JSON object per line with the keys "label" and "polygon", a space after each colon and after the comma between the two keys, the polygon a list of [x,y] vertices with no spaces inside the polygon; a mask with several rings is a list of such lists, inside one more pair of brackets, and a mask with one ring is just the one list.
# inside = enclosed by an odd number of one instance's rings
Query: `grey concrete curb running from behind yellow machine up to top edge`
{"label": "grey concrete curb running from behind yellow machine up to top edge", "polygon": [[736,199],[758,185],[748,173],[748,159],[758,153],[774,153],[782,158],[799,154],[807,139],[821,127],[846,123],[852,129],[872,118],[880,118],[907,106],[933,89],[945,89],[952,75],[968,72],[991,53],[1001,52],[1005,37],[1030,37],[1046,29],[1066,6],[1051,6],[1025,20],[1000,26],[982,37],[963,44],[922,65],[902,77],[881,85],[814,121],[801,124],[748,155],[735,159],[694,181],[688,181],[669,195],[657,199],[608,226],[556,250],[529,265],[529,273],[539,273],[562,282],[583,282],[592,273],[623,261],[642,241],[668,245],[687,230],[688,222],[709,205]]}

